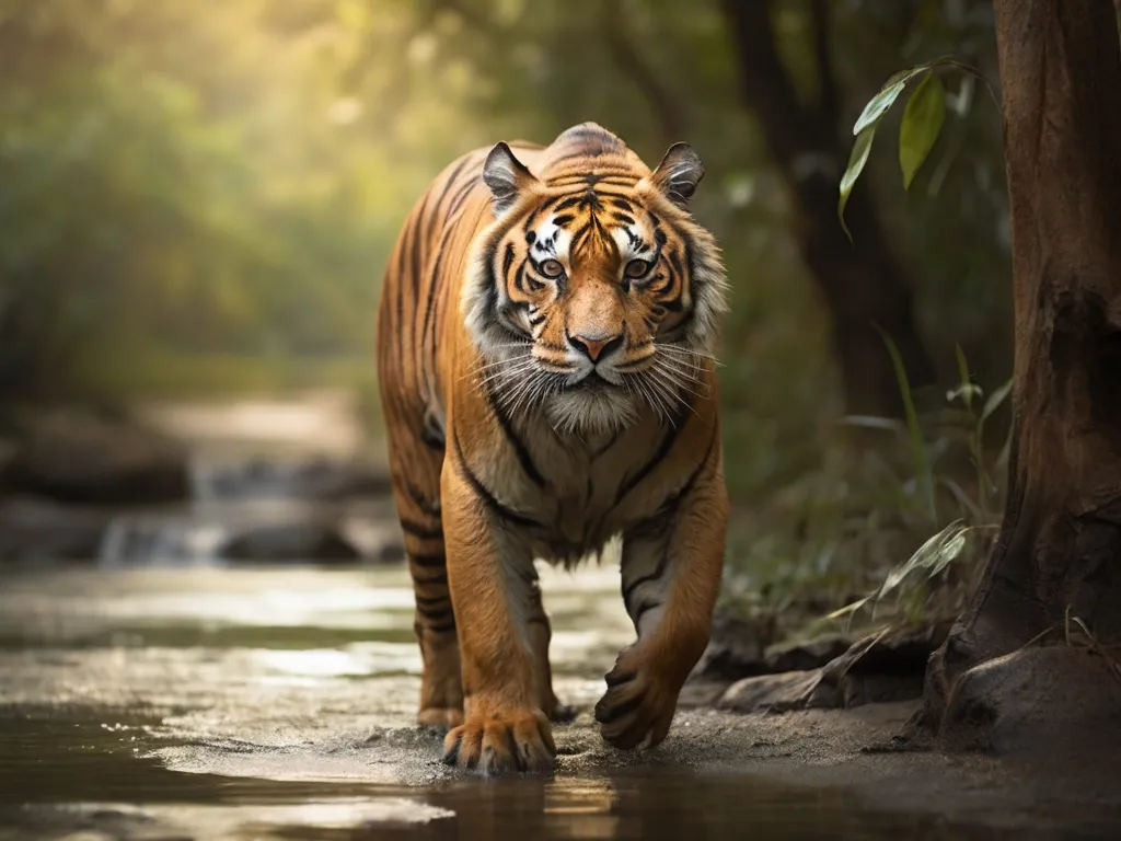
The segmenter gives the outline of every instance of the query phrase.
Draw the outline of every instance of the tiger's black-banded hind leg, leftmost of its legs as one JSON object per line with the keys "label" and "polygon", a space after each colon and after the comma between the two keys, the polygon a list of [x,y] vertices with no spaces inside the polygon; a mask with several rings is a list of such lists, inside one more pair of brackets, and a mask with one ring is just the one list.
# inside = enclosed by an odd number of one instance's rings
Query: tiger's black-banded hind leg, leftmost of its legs
{"label": "tiger's black-banded hind leg, leftmost of its legs", "polygon": [[393,496],[416,598],[413,627],[424,662],[417,721],[450,728],[463,722],[463,687],[441,523],[444,456],[442,449],[423,442],[414,428],[413,424],[387,424]]}

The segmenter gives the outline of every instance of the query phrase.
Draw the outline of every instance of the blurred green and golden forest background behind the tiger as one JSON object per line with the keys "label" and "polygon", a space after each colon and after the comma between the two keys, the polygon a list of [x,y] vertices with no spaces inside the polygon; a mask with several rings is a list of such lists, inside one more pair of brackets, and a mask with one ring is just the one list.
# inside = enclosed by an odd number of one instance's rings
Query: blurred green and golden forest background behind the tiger
{"label": "blurred green and golden forest background behind the tiger", "polygon": [[[1011,369],[984,85],[945,76],[945,128],[908,191],[889,113],[845,211],[853,243],[836,214],[865,102],[947,54],[997,78],[989,2],[0,0],[0,395],[333,385],[376,428],[381,271],[444,164],[585,120],[651,165],[684,139],[733,287],[742,591],[828,580],[840,553],[859,563],[837,586],[859,593],[916,539],[999,507],[983,465],[1004,425],[981,434],[969,403]],[[963,366],[982,394],[962,392]]]}

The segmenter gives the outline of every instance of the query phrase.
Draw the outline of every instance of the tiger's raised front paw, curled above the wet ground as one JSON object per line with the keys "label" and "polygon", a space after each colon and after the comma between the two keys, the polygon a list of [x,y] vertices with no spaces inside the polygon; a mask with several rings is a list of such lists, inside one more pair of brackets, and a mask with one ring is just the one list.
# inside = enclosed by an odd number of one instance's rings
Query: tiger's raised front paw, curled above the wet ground
{"label": "tiger's raised front paw, curled above the wet ground", "polygon": [[600,733],[611,745],[631,750],[649,737],[652,748],[669,732],[680,684],[643,662],[638,649],[624,650],[604,676],[608,691],[595,704]]}

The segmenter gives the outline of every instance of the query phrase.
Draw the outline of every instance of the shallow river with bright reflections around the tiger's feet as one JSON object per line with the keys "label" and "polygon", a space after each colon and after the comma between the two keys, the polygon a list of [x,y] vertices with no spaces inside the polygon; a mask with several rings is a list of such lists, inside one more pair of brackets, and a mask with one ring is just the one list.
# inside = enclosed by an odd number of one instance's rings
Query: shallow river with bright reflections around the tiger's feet
{"label": "shallow river with bright reflections around the tiger's feet", "polygon": [[744,775],[734,741],[722,758],[689,747],[713,713],[679,714],[651,754],[613,751],[587,710],[631,636],[617,576],[544,575],[557,692],[584,712],[557,733],[555,776],[485,782],[413,726],[404,569],[4,573],[0,838],[1013,834]]}

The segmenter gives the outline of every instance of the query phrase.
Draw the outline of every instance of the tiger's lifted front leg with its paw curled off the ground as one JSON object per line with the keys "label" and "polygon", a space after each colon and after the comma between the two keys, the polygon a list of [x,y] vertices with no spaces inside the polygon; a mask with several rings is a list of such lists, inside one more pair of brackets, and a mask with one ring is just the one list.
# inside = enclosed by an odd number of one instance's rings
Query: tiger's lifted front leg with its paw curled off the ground
{"label": "tiger's lifted front leg with its paw curled off the ground", "polygon": [[707,645],[728,528],[719,447],[671,505],[623,535],[623,602],[638,640],[620,651],[595,705],[600,732],[617,748],[666,738],[682,685]]}

